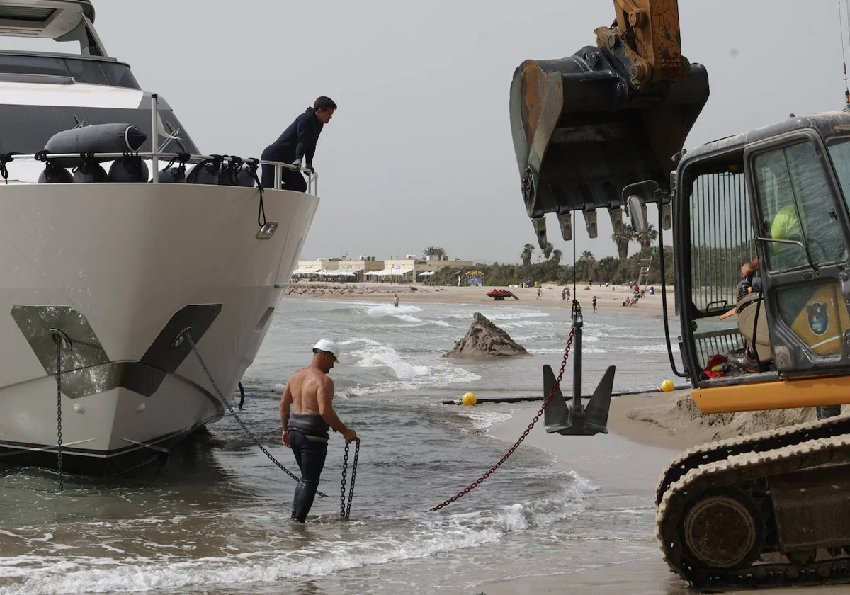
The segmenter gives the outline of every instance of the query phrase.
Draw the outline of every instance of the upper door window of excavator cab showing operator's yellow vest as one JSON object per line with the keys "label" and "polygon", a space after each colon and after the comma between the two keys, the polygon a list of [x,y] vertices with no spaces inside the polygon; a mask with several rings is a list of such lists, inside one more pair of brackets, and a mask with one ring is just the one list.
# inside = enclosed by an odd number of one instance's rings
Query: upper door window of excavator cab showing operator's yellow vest
{"label": "upper door window of excavator cab showing operator's yellow vest", "polygon": [[[824,166],[808,141],[768,150],[753,162],[761,234],[776,240],[802,241],[815,264],[847,259]],[[768,242],[765,251],[771,271],[808,266],[799,246]]]}

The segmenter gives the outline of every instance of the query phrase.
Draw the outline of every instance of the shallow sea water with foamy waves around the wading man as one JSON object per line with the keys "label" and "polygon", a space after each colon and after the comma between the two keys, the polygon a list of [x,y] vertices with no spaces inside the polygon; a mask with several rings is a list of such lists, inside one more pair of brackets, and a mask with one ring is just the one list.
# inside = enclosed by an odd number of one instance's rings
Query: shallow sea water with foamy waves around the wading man
{"label": "shallow sea water with foamy waves around the wading man", "polygon": [[[476,311],[534,356],[442,357]],[[462,593],[537,567],[654,556],[651,501],[612,494],[526,445],[469,496],[428,512],[501,458],[509,445],[487,428],[517,408],[439,401],[467,391],[479,398],[541,394],[542,365],[557,371],[569,316],[568,309],[507,303],[394,308],[285,299],[246,372],[238,414],[297,472],[292,452],[280,445],[280,395],[272,387],[309,363],[319,338],[340,343],[334,404],[362,440],[351,519],[340,519],[338,435],[331,436],[320,484],[328,497],[316,499],[307,524],[292,524],[294,481],[228,415],[164,466],[120,479],[66,480],[58,493],[54,473],[4,470],[0,595]],[[660,316],[587,313],[583,394],[592,394],[608,365],[617,366],[615,390],[657,387],[669,376],[662,335]],[[568,365],[564,394],[571,386]],[[585,439],[605,438],[577,440]],[[350,470],[349,462],[349,477]],[[604,547],[588,550],[588,543]]]}

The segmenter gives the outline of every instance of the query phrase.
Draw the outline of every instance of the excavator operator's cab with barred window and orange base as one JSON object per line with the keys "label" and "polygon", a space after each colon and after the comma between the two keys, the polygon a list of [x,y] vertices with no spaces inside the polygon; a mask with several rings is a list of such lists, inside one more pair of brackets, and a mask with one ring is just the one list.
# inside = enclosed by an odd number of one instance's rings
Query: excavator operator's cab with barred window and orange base
{"label": "excavator operator's cab with barred window and orange base", "polygon": [[[850,403],[850,113],[704,144],[679,161],[671,196],[680,348],[700,410]],[[758,291],[739,291],[754,256]],[[742,353],[749,365],[706,373]]]}

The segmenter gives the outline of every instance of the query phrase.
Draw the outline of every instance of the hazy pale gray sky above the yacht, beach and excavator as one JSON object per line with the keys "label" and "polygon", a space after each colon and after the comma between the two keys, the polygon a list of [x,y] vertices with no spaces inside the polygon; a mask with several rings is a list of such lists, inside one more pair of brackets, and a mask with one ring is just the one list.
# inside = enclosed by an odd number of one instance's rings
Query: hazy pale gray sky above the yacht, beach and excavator
{"label": "hazy pale gray sky above the yacht, beach and excavator", "polygon": [[[513,71],[595,44],[593,29],[615,15],[609,0],[95,5],[107,51],[167,98],[203,151],[259,156],[315,97],[337,102],[314,159],[321,202],[303,260],[436,245],[450,258],[518,262],[536,241],[508,122]],[[711,84],[686,147],[791,112],[842,109],[836,0],[679,9],[683,54],[706,65]],[[549,240],[571,262],[549,217]],[[596,240],[581,216],[576,227],[580,253],[615,254],[607,212]]]}

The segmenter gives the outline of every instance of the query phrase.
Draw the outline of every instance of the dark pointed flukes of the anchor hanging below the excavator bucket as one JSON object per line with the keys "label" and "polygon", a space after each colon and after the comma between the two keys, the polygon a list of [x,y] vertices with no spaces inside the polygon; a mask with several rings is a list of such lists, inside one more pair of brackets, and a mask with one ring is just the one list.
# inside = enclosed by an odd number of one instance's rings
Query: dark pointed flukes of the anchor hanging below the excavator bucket
{"label": "dark pointed flukes of the anchor hanging below the excavator bucket", "polygon": [[[614,388],[615,366],[610,365],[602,380],[587,402],[587,407],[581,406],[581,399],[576,399],[578,405],[567,405],[564,394],[558,388],[547,408],[543,410],[543,424],[547,433],[560,433],[564,436],[592,436],[597,433],[608,433],[608,411],[611,406],[611,391]],[[555,374],[552,366],[543,366],[543,394],[548,395],[555,388]],[[573,400],[573,399],[570,399]]]}

